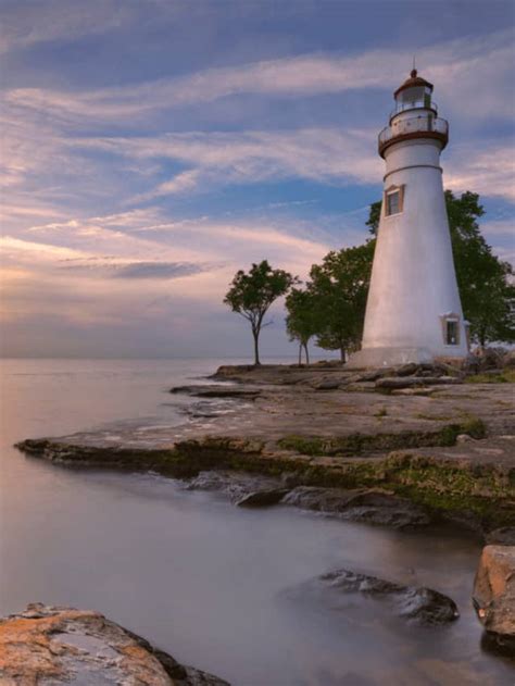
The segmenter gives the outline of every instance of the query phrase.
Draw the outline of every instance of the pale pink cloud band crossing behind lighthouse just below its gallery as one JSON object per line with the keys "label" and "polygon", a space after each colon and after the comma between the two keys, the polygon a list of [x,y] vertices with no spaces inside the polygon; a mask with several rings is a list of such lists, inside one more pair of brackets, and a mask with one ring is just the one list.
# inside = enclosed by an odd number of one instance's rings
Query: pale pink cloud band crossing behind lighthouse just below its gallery
{"label": "pale pink cloud band crossing behind lighthouse just below its gallery", "polygon": [[[372,128],[301,128],[236,133],[191,132],[133,138],[84,138],[74,145],[130,160],[169,160],[192,165],[171,182],[130,199],[192,192],[205,187],[304,178],[323,184],[380,184],[384,164]],[[482,139],[450,147],[444,184],[453,190],[515,200],[513,140]]]}

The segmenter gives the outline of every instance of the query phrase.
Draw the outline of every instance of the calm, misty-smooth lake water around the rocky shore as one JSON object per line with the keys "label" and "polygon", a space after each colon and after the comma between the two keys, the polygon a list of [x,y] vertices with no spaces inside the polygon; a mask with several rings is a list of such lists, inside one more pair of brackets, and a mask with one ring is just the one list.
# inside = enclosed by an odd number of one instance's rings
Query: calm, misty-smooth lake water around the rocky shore
{"label": "calm, misty-smooth lake water around the rocky shore", "polygon": [[[74,471],[12,448],[134,417],[183,422],[166,389],[218,363],[2,362],[0,612],[33,601],[98,609],[234,686],[514,684],[508,663],[479,647],[477,541],[239,510],[163,477]],[[461,619],[406,627],[355,596],[340,610],[288,599],[338,566],[442,590]]]}

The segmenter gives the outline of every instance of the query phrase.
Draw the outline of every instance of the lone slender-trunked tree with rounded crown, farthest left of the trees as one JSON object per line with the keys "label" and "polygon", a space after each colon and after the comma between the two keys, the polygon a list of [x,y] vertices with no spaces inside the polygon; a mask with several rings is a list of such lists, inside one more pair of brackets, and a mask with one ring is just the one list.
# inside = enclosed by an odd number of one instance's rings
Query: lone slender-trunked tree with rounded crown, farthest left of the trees
{"label": "lone slender-trunked tree with rounded crown, farthest left of the trees", "polygon": [[271,304],[284,296],[296,283],[293,277],[284,270],[273,270],[266,260],[260,264],[252,264],[249,273],[239,270],[235,274],[224,302],[233,312],[237,312],[250,322],[254,339],[254,364],[260,362],[260,334],[264,326],[264,317]]}

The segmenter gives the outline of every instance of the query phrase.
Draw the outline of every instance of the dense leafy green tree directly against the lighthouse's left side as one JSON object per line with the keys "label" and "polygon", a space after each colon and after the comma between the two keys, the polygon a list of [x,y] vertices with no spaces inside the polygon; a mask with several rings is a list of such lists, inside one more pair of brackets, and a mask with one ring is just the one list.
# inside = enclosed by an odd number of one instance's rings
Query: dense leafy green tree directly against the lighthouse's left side
{"label": "dense leafy green tree directly against the lighthouse's left side", "polygon": [[339,350],[341,361],[360,347],[370,283],[375,240],[331,251],[311,269],[311,288],[317,299],[317,345]]}

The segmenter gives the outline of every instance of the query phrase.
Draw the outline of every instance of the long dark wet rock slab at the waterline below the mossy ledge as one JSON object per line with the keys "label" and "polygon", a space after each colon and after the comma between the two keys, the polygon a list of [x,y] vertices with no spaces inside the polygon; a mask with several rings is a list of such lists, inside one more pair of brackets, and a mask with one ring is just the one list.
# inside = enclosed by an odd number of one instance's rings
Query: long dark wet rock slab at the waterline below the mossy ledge
{"label": "long dark wet rock slab at the waterline below the mossy ledge", "polygon": [[379,489],[343,490],[299,486],[285,496],[282,503],[393,528],[426,526],[431,522],[426,509]]}

